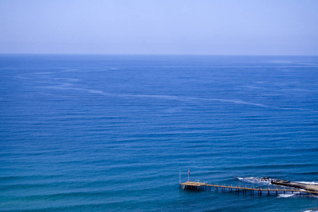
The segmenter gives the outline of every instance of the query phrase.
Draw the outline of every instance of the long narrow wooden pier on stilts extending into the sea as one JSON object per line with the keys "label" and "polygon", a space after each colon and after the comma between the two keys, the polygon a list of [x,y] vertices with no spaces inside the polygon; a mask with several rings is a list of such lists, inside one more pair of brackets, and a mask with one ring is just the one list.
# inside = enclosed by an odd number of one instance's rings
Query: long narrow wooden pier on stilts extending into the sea
{"label": "long narrow wooden pier on stilts extending into the sea", "polygon": [[235,186],[228,186],[228,185],[218,185],[218,184],[209,184],[206,182],[184,182],[179,184],[179,189],[184,190],[194,190],[194,191],[207,191],[211,192],[212,188],[214,188],[215,192],[218,192],[218,189],[220,189],[222,192],[225,192],[225,190],[228,190],[228,192],[242,192],[243,194],[247,194],[247,192],[250,192],[251,195],[254,195],[254,192],[257,192],[257,194],[286,194],[286,192],[290,192],[291,194],[294,194],[294,192],[299,192],[299,194],[314,194],[318,195],[318,191],[315,190],[305,190],[305,189],[264,189],[264,188],[249,188],[249,187],[235,187]]}

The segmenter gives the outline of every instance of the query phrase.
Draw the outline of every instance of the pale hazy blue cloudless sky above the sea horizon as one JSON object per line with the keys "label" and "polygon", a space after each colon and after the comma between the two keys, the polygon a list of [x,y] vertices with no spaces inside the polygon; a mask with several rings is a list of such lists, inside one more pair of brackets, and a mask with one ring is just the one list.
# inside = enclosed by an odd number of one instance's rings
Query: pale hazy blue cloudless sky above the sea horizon
{"label": "pale hazy blue cloudless sky above the sea horizon", "polygon": [[1,0],[0,53],[318,55],[318,1]]}

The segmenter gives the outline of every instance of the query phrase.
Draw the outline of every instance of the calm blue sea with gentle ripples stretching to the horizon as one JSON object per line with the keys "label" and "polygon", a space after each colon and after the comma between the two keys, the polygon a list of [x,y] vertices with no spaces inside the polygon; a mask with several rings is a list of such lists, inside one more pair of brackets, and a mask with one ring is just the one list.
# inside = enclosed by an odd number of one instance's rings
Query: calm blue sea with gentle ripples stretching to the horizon
{"label": "calm blue sea with gentle ripples stretching to the horizon", "polygon": [[318,184],[318,57],[1,54],[0,74],[0,211],[318,210],[179,188]]}

